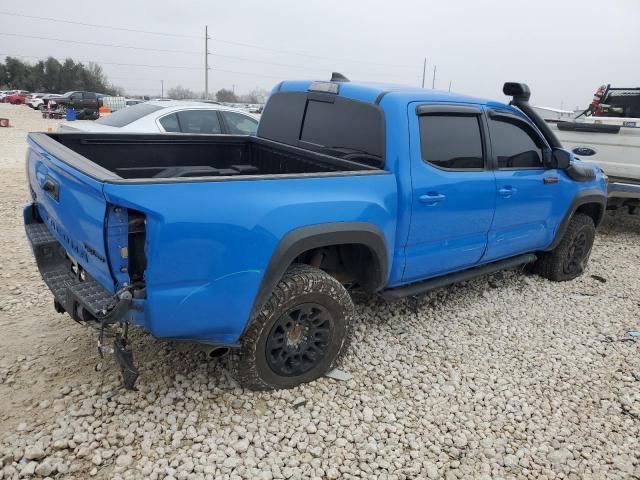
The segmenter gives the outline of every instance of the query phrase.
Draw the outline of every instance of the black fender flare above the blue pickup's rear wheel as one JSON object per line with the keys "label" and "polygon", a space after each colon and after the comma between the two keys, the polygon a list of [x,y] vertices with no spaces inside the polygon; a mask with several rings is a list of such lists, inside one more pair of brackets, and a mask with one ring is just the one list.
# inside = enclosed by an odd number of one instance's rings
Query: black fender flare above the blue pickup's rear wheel
{"label": "black fender flare above the blue pickup's rear wheel", "polygon": [[314,248],[345,244],[362,244],[371,250],[377,267],[376,278],[372,282],[373,289],[382,290],[387,283],[389,259],[384,234],[378,227],[366,222],[336,222],[300,227],[287,233],[273,252],[253,302],[250,320],[260,311],[296,257]]}

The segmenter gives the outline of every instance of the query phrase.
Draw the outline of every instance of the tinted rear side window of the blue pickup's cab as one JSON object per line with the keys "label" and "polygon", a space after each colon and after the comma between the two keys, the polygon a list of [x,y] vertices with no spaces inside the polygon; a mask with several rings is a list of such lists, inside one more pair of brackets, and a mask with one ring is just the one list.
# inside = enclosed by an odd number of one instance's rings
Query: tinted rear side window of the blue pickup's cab
{"label": "tinted rear side window of the blue pickup's cab", "polygon": [[422,159],[440,168],[484,168],[482,137],[477,116],[420,117]]}

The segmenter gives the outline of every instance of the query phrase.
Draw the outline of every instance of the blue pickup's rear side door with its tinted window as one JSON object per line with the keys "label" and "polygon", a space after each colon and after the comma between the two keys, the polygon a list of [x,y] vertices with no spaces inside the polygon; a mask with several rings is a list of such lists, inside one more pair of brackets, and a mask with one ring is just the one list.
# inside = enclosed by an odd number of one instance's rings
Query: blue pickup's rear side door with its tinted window
{"label": "blue pickup's rear side door with its tinted window", "polygon": [[495,209],[482,110],[473,104],[409,104],[411,226],[404,281],[475,265]]}

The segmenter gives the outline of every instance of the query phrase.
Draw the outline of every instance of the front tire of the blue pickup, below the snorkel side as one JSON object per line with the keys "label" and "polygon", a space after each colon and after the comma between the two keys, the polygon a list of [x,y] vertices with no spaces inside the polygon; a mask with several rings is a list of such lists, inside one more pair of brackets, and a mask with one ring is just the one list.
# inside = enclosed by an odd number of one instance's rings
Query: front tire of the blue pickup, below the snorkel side
{"label": "front tire of the blue pickup, below the snorkel side", "polygon": [[[593,219],[583,213],[576,213],[569,221],[569,226],[556,248],[538,254],[538,260],[533,266],[534,273],[554,282],[565,282],[579,277],[589,261],[595,235]],[[577,265],[569,268],[569,259],[575,253],[576,243],[582,243],[580,239],[584,241],[582,252],[574,259],[577,260]]]}

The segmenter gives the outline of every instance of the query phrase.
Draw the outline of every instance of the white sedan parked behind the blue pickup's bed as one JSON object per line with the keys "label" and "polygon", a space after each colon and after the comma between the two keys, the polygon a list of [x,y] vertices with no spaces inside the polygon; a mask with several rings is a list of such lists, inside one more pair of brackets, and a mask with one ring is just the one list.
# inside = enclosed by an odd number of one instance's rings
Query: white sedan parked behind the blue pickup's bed
{"label": "white sedan parked behind the blue pickup's bed", "polygon": [[124,108],[95,122],[65,123],[58,131],[254,135],[258,117],[223,105],[155,100]]}

